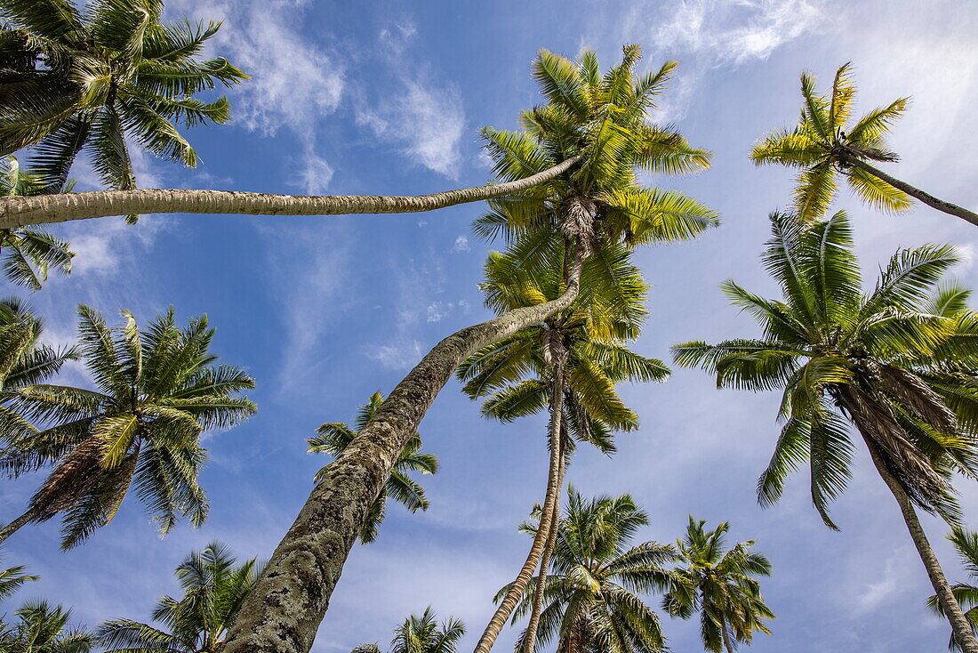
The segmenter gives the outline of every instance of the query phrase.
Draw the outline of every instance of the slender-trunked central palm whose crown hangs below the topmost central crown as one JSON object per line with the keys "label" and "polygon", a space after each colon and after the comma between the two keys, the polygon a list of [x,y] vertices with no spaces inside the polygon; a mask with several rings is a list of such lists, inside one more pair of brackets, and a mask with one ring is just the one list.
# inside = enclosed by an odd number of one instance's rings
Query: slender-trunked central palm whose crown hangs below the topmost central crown
{"label": "slender-trunked central palm whose crown hangs below the topmost central crown", "polygon": [[[562,247],[554,247],[534,268],[525,267],[512,256],[490,255],[487,281],[482,284],[486,304],[502,313],[558,297],[563,284],[562,254]],[[612,453],[611,431],[638,427],[638,416],[622,403],[615,383],[663,381],[669,374],[662,361],[625,347],[627,339],[638,336],[647,314],[646,291],[641,271],[631,264],[628,248],[620,244],[602,247],[584,266],[577,302],[541,324],[476,351],[459,367],[457,375],[467,382],[463,390],[470,398],[489,396],[482,406],[487,417],[511,422],[550,405],[546,526],[536,533],[527,559],[511,584],[514,594],[525,590],[538,563],[541,574],[546,575],[549,569],[556,545],[559,492],[574,441],[592,443],[602,452]],[[538,581],[525,653],[533,650],[543,586]]]}

